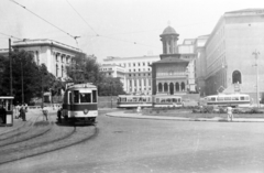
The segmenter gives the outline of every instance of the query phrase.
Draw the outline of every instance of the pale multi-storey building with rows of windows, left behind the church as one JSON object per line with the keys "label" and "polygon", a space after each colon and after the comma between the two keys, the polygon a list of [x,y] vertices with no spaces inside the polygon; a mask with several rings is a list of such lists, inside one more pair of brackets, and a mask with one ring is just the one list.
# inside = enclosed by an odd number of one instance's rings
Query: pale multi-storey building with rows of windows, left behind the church
{"label": "pale multi-storey building with rows of windows, left behind the church", "polygon": [[152,68],[150,65],[158,60],[160,60],[158,55],[138,57],[108,56],[107,58],[103,60],[101,68],[103,68],[105,65],[118,65],[122,67],[124,69],[125,75],[123,78],[121,78],[121,82],[123,80],[123,87],[127,94],[151,95]]}

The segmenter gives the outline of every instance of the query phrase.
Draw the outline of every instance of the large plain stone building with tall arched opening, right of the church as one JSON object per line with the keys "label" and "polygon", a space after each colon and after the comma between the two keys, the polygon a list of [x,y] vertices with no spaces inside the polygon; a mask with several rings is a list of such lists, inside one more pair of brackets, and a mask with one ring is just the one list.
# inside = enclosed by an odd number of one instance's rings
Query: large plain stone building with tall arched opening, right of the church
{"label": "large plain stone building with tall arched opening, right of the church", "polygon": [[264,9],[226,12],[197,53],[196,79],[206,95],[245,93],[257,100],[256,89],[264,91]]}

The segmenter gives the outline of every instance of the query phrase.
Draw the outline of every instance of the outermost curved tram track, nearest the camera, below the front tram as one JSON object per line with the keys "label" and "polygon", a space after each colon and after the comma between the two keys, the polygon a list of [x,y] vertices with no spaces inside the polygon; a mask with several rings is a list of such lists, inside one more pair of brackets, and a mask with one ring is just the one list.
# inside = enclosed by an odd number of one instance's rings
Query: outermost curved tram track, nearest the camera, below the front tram
{"label": "outermost curved tram track, nearest the camera, below the front tram", "polygon": [[[6,148],[1,151],[0,164],[14,162],[18,160],[36,156],[40,154],[62,150],[68,147],[73,147],[85,141],[88,141],[95,138],[99,133],[99,129],[94,126],[92,131],[90,133],[87,132],[87,128],[77,128],[62,136],[61,138],[51,138],[43,139],[37,141],[29,141],[31,144],[26,144],[20,148]],[[56,136],[54,136],[56,137]]]}

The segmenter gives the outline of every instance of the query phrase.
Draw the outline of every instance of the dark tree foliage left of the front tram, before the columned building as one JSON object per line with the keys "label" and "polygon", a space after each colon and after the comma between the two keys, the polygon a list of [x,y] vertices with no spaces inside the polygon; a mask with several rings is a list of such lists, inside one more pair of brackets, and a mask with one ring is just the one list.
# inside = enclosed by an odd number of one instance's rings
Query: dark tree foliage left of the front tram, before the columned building
{"label": "dark tree foliage left of the front tram, before the columned building", "polygon": [[[36,65],[33,55],[30,52],[12,52],[12,83],[14,102],[30,102],[34,97],[41,97],[42,90],[48,91],[50,88],[56,88],[56,78],[48,73],[46,66]],[[10,61],[8,57],[0,58],[0,95],[10,95]],[[42,89],[43,87],[43,89]],[[22,89],[23,88],[23,89]]]}

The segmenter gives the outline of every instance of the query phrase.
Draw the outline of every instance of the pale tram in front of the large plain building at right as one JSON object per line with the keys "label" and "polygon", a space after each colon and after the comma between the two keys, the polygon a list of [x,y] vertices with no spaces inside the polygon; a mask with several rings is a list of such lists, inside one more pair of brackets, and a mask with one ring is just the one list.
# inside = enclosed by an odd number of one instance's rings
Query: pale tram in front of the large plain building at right
{"label": "pale tram in front of the large plain building at right", "polygon": [[204,98],[204,104],[231,107],[250,107],[251,98],[245,94],[211,95]]}

